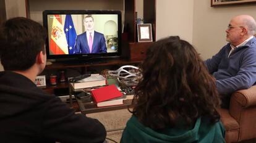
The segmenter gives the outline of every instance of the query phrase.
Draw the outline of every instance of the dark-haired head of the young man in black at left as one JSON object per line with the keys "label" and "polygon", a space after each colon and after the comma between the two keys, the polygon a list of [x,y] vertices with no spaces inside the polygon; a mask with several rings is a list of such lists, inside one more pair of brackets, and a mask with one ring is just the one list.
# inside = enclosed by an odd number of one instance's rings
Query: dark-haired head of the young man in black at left
{"label": "dark-haired head of the young man in black at left", "polygon": [[[4,70],[25,71],[39,63],[38,72],[45,68],[45,28],[33,20],[16,17],[0,28],[0,58]],[[40,71],[41,70],[41,71]]]}

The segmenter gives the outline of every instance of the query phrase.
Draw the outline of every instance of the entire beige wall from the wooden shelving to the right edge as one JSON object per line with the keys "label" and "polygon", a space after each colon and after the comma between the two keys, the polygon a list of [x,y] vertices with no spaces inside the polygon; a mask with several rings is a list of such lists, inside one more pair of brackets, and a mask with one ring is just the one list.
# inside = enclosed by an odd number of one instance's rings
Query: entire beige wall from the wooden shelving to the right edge
{"label": "entire beige wall from the wooden shelving to the right edge", "polygon": [[256,19],[255,9],[256,4],[210,7],[210,0],[156,0],[156,39],[179,35],[208,59],[226,44],[229,20],[239,14]]}

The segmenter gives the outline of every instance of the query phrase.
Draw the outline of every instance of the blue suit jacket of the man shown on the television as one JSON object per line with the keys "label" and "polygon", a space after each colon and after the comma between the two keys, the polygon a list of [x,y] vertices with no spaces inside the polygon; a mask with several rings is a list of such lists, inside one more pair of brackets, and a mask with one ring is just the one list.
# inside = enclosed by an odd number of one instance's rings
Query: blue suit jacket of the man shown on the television
{"label": "blue suit jacket of the man shown on the television", "polygon": [[[77,36],[74,52],[75,54],[90,53],[86,32]],[[107,49],[106,49],[104,35],[94,31],[92,53],[106,53],[106,52],[107,52]]]}

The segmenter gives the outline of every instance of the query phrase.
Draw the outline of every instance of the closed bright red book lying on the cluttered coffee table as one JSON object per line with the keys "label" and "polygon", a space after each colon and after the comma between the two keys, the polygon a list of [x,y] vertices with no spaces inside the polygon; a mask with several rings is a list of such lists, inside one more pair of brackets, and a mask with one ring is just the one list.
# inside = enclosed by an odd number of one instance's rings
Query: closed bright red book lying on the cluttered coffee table
{"label": "closed bright red book lying on the cluttered coffee table", "polygon": [[106,100],[122,97],[122,93],[116,88],[114,84],[104,86],[103,88],[93,89],[92,97],[96,103]]}

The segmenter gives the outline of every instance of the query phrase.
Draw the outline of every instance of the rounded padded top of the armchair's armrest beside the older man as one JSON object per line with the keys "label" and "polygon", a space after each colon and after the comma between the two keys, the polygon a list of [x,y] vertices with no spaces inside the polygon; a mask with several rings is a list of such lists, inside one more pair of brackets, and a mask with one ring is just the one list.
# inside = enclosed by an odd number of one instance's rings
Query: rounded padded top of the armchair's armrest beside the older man
{"label": "rounded padded top of the armchair's armrest beside the older man", "polygon": [[244,108],[256,105],[256,86],[234,92],[231,100],[236,100]]}

